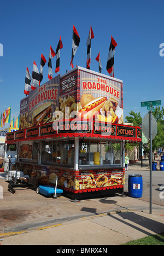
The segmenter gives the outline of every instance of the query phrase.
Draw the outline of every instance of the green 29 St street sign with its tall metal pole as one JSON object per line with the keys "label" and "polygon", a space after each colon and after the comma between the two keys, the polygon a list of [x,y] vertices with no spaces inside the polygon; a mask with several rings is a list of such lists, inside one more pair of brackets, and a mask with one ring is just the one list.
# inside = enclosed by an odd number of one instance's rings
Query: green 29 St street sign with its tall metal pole
{"label": "green 29 St street sign with its tall metal pole", "polygon": [[[141,107],[147,107],[149,112],[149,138],[150,138],[150,209],[149,213],[152,214],[152,111],[154,111],[154,107],[161,105],[161,101],[144,101],[141,102]],[[156,134],[155,134],[156,135]]]}

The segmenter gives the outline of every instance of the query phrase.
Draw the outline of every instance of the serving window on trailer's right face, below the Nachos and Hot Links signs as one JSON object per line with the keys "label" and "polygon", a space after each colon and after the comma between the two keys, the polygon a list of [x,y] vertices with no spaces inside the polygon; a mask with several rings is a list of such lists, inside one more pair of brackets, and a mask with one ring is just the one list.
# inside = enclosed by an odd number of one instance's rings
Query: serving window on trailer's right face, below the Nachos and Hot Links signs
{"label": "serving window on trailer's right face, below the Nachos and Hot Links signs", "polygon": [[121,142],[80,139],[79,165],[120,165]]}

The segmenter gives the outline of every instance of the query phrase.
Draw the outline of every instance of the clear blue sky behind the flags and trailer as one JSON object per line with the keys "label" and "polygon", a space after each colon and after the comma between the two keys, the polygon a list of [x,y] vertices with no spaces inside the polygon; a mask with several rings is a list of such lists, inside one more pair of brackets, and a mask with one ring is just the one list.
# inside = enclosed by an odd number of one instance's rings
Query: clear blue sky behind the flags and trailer
{"label": "clear blue sky behind the flags and trailer", "polygon": [[[98,1],[40,0],[3,1],[0,7],[0,113],[11,106],[11,119],[19,115],[20,100],[25,97],[26,67],[32,74],[33,61],[40,68],[40,55],[48,61],[50,45],[54,50],[61,36],[60,74],[71,70],[72,29],[77,28],[80,44],[73,64],[86,67],[86,40],[92,26],[91,69],[98,72],[95,60],[100,52],[102,73],[106,70],[111,35],[115,48],[115,78],[123,80],[124,120],[133,110],[142,117],[147,107],[142,101],[161,100],[164,106],[164,43],[162,0]],[[164,51],[163,51],[164,53]],[[52,59],[55,76],[56,58]],[[47,63],[43,81],[48,80]],[[8,124],[5,126],[8,127]]]}

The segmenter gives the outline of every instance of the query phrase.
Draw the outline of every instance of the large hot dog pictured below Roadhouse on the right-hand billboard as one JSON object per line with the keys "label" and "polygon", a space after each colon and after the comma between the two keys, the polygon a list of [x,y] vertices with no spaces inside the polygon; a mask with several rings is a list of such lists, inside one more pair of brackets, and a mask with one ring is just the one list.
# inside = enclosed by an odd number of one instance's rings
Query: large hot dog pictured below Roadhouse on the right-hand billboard
{"label": "large hot dog pictured below Roadhouse on the right-hand billboard", "polygon": [[94,98],[90,102],[84,105],[82,109],[78,112],[79,119],[96,119],[97,114],[99,114],[100,109],[103,107],[104,103],[107,101],[107,97]]}

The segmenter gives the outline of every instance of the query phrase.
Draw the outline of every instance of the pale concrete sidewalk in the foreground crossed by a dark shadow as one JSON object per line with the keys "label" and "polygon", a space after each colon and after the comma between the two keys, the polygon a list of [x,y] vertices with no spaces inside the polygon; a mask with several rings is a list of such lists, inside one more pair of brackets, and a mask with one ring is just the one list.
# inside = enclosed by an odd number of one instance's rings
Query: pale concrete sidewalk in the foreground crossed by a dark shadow
{"label": "pale concrete sidewalk in the foreground crossed by a dark shadow", "polygon": [[16,235],[1,235],[1,245],[120,245],[164,232],[164,215],[120,211],[84,217]]}

